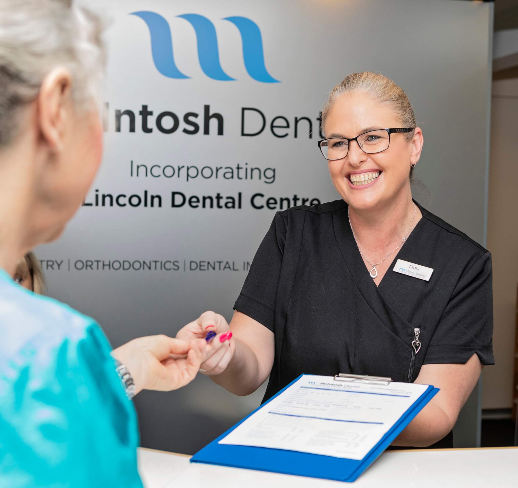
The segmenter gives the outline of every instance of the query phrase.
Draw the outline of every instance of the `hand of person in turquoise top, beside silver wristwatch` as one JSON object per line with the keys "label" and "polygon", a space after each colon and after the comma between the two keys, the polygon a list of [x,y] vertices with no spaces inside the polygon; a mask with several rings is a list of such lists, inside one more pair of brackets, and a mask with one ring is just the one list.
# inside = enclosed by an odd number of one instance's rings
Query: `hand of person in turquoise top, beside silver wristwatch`
{"label": "hand of person in turquoise top, beside silver wristwatch", "polygon": [[136,393],[170,391],[190,383],[205,358],[206,341],[184,341],[165,335],[139,337],[111,351],[130,372]]}

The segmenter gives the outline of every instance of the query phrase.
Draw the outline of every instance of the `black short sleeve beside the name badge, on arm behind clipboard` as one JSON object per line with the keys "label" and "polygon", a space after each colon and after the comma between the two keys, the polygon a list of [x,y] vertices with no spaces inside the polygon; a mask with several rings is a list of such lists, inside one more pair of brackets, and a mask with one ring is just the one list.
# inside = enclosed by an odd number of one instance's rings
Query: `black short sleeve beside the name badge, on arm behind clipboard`
{"label": "black short sleeve beside the name badge, on arm behind clipboard", "polygon": [[424,364],[464,364],[473,354],[484,365],[495,364],[489,252],[481,255],[459,279],[431,338]]}

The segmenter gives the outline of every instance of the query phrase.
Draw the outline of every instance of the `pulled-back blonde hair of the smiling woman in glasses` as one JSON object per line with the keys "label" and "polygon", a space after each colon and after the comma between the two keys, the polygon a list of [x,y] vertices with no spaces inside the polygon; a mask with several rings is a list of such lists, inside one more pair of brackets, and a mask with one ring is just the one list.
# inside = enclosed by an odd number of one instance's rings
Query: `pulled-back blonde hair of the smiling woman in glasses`
{"label": "pulled-back blonde hair of the smiling woman in glasses", "polygon": [[[363,71],[346,76],[341,83],[333,87],[329,98],[322,109],[321,130],[324,132],[324,124],[338,98],[349,93],[365,93],[376,102],[389,105],[396,113],[402,127],[415,127],[415,116],[406,93],[390,78],[381,74]],[[414,131],[405,134],[407,140],[412,140]],[[410,179],[413,178],[413,168],[410,168]]]}

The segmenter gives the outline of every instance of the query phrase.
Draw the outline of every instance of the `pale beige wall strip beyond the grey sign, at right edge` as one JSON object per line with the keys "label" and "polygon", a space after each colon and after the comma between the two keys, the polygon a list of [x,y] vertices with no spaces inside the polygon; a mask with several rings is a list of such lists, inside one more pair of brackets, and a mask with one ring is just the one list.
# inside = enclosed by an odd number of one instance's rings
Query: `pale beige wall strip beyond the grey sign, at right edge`
{"label": "pale beige wall strip beyond the grey sign, at right edge", "polygon": [[485,368],[482,408],[510,408],[518,282],[518,78],[493,82],[487,249],[493,255],[495,366]]}

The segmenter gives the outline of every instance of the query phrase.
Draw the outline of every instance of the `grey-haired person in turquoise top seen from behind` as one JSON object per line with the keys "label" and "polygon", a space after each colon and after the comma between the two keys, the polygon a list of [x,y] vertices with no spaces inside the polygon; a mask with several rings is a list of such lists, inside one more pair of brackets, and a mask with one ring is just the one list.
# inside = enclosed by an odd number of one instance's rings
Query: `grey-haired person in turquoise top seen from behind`
{"label": "grey-haired person in turquoise top seen from behind", "polygon": [[102,157],[103,23],[74,0],[0,1],[0,486],[142,486],[131,398],[197,374],[205,340],[112,351],[91,318],[11,276],[62,233]]}

